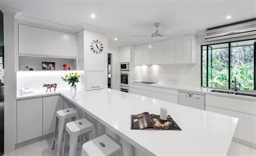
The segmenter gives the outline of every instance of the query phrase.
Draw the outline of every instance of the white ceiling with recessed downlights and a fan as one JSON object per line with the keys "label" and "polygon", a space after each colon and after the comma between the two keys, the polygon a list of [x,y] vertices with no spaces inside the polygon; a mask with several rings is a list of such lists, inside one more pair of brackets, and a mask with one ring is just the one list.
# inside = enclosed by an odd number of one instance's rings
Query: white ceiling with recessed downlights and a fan
{"label": "white ceiling with recessed downlights and a fan", "polygon": [[[53,1],[0,0],[10,8],[22,10],[18,20],[54,25],[66,30],[81,27],[107,33],[110,44],[131,45],[151,35],[153,23],[170,25],[165,34],[185,30],[203,31],[213,26],[243,21],[256,17],[255,0],[205,1]],[[95,13],[96,18],[90,17]],[[226,16],[232,16],[226,19]],[[164,27],[164,29],[166,26]],[[163,28],[162,28],[163,29]],[[114,41],[113,38],[118,40]]]}

